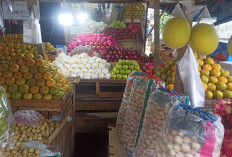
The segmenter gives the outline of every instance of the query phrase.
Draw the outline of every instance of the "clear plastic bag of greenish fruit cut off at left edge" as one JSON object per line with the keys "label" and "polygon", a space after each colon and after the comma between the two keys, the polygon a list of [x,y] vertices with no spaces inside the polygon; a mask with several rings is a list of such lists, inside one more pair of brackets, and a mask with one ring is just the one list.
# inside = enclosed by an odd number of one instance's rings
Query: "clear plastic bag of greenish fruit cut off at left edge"
{"label": "clear plastic bag of greenish fruit cut off at left edge", "polygon": [[5,90],[0,86],[0,147],[14,145],[14,118]]}

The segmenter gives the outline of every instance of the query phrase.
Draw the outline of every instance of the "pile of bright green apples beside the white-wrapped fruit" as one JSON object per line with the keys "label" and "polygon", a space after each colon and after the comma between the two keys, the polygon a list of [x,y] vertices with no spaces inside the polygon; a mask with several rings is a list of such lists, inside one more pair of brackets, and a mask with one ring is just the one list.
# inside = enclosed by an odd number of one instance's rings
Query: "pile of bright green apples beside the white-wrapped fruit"
{"label": "pile of bright green apples beside the white-wrapped fruit", "polygon": [[119,60],[111,71],[111,79],[127,79],[132,72],[142,72],[136,61]]}

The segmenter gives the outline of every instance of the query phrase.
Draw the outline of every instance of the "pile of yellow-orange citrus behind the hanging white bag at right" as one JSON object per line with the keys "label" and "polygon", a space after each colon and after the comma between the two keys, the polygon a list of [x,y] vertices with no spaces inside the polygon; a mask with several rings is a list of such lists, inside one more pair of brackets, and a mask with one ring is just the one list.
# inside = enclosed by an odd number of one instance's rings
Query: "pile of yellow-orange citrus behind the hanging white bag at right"
{"label": "pile of yellow-orange citrus behind the hanging white bag at right", "polygon": [[[212,98],[232,98],[232,76],[228,70],[221,68],[220,64],[214,62],[212,58],[197,55],[195,58],[199,64],[199,75],[205,88],[205,96],[207,99]],[[175,82],[175,61],[167,63],[159,72],[159,77],[163,79],[166,87],[174,88]]]}

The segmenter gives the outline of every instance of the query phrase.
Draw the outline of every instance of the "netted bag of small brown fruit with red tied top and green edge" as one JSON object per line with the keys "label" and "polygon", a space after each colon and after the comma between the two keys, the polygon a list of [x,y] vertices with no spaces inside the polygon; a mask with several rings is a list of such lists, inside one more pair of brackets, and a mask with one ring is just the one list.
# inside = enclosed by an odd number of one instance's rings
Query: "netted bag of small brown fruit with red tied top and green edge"
{"label": "netted bag of small brown fruit with red tied top and green edge", "polygon": [[164,86],[163,81],[156,76],[142,75],[134,79],[121,138],[127,150],[131,152],[134,150],[137,132],[141,128],[139,121],[143,119],[142,111],[147,106],[150,92]]}

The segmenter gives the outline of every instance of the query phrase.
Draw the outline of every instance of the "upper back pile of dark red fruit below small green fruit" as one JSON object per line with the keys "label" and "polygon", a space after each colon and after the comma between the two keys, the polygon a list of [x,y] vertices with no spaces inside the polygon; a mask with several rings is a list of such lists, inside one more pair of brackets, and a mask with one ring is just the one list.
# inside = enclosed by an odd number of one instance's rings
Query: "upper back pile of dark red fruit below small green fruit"
{"label": "upper back pile of dark red fruit below small green fruit", "polygon": [[135,33],[129,28],[106,27],[103,33],[111,35],[117,40],[135,39]]}

